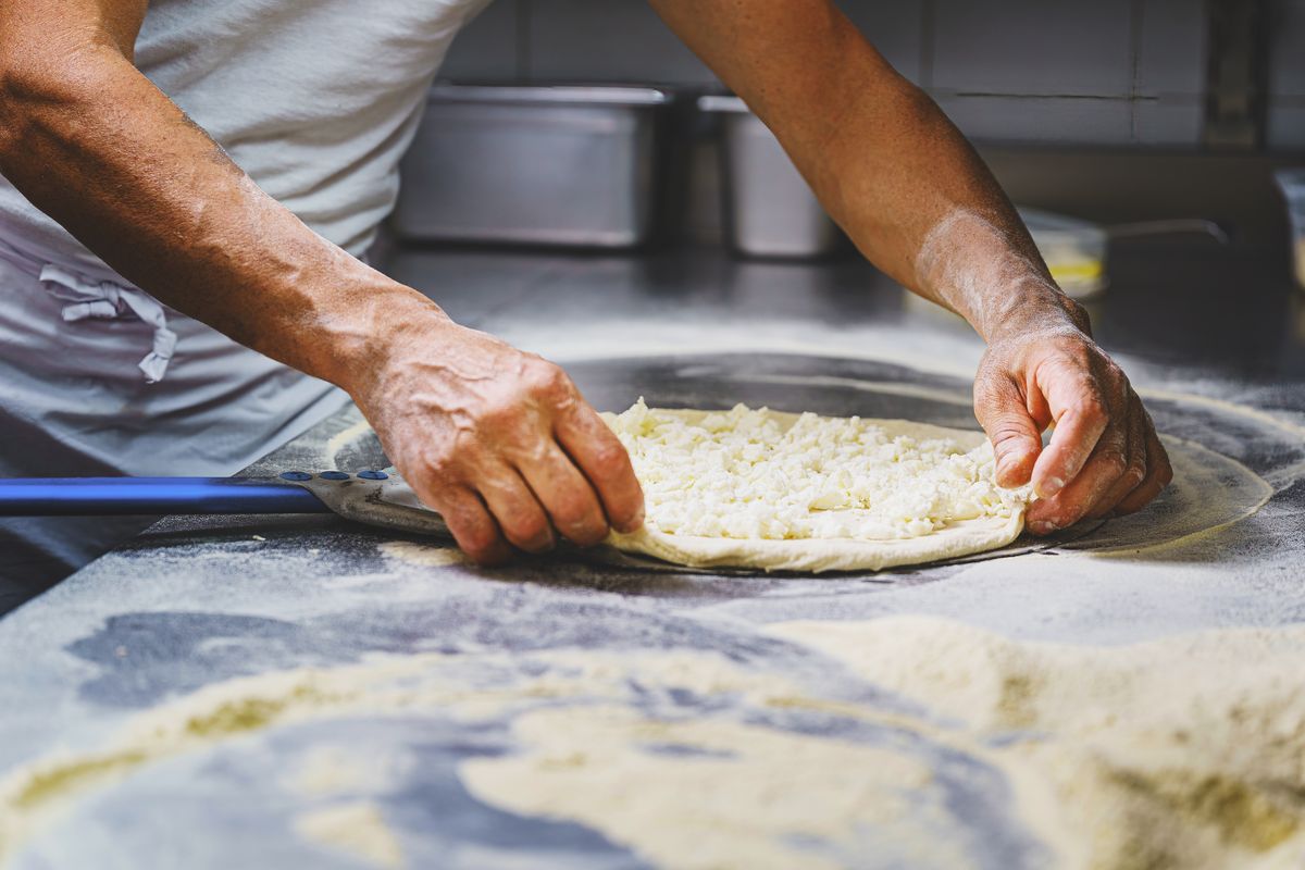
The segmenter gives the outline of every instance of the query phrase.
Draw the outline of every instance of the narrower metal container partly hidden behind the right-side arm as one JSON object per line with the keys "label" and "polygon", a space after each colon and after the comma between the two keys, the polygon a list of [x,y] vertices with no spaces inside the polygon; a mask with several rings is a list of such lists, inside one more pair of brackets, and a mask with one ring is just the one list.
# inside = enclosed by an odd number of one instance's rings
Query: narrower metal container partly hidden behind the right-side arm
{"label": "narrower metal container partly hidden behind the right-side arm", "polygon": [[719,115],[722,214],[729,247],[752,257],[812,258],[838,250],[843,233],[825,214],[775,134],[737,97],[702,97]]}

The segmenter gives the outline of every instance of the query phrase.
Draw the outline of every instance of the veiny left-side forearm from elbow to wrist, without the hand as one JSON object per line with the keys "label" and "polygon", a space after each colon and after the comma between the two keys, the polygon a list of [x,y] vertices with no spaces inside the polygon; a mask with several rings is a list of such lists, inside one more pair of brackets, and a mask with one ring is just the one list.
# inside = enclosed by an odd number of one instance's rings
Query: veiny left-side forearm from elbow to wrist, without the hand
{"label": "veiny left-side forearm from elbow to wrist, without the hand", "polygon": [[125,278],[335,383],[437,307],[271,200],[112,46],[7,70],[0,172]]}

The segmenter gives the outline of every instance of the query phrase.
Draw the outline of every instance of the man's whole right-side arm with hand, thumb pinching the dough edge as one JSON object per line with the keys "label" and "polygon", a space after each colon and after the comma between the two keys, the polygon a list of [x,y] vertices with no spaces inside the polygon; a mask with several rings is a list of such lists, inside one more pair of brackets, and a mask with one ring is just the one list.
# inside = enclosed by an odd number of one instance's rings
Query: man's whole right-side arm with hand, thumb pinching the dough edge
{"label": "man's whole right-side arm with hand, thumb pinching the dough edge", "polygon": [[975,413],[998,480],[1043,496],[1035,532],[1137,510],[1164,488],[1168,457],[1142,403],[992,173],[830,0],[651,3],[775,132],[861,252],[988,343]]}

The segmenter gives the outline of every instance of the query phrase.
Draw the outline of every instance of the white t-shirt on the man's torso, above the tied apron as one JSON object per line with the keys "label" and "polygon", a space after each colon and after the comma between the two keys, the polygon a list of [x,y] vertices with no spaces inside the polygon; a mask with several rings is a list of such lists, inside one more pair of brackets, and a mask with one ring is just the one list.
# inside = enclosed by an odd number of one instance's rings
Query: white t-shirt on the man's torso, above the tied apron
{"label": "white t-shirt on the man's torso, above the tied apron", "polygon": [[[454,35],[489,0],[154,0],[136,65],[249,176],[346,250],[367,249]],[[103,269],[0,179],[7,235]]]}

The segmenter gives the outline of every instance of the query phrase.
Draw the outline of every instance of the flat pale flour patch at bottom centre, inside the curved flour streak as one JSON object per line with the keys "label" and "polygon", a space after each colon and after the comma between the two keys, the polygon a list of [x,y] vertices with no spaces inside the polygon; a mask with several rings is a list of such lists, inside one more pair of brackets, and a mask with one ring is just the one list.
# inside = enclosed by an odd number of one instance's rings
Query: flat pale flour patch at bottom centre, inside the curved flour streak
{"label": "flat pale flour patch at bottom centre, inside the curved flour streak", "polygon": [[684,870],[837,869],[842,861],[795,841],[851,856],[859,827],[906,823],[907,796],[930,780],[921,760],[891,749],[624,707],[540,710],[513,734],[525,753],[462,766],[475,797],[579,822]]}

